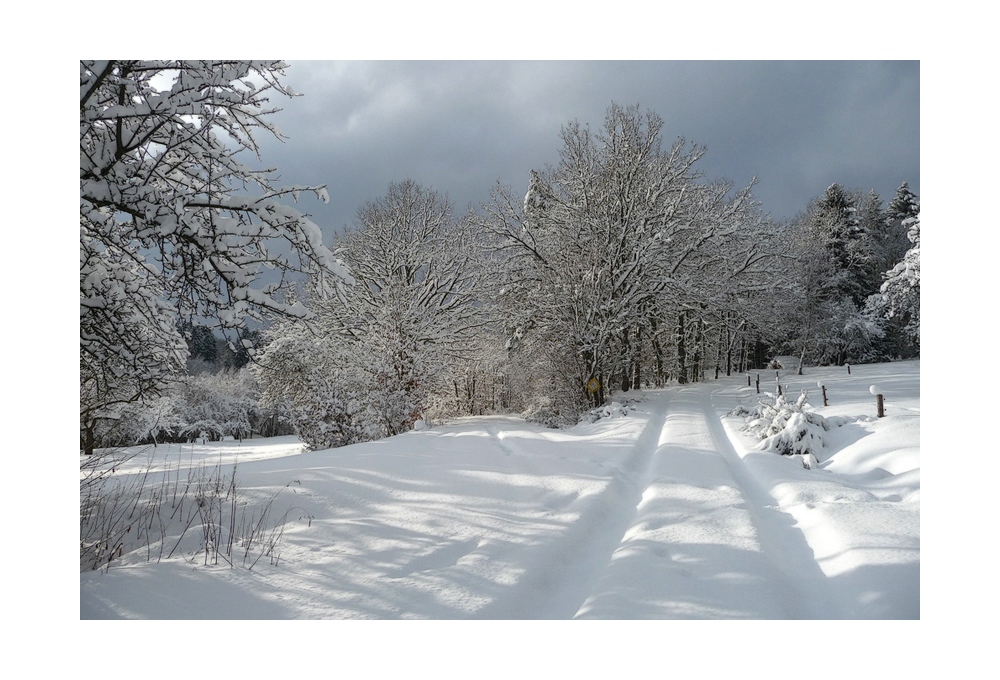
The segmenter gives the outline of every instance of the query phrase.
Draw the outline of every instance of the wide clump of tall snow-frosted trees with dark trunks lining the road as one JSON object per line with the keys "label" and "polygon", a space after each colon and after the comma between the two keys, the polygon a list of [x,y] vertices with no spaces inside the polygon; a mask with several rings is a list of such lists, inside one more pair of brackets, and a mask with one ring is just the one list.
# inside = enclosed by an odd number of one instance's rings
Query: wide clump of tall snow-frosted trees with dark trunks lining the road
{"label": "wide clump of tall snow-frosted trees with dark trunks lining the road", "polygon": [[[481,224],[506,258],[512,362],[537,362],[515,371],[532,383],[515,392],[573,395],[539,406],[546,420],[678,367],[701,375],[710,348],[719,360],[722,309],[741,310],[768,285],[780,248],[750,187],[701,182],[704,149],[664,148],[662,128],[655,113],[612,104],[599,132],[563,128],[559,164],[530,173],[523,202],[498,188],[484,206]],[[735,294],[744,284],[748,294]],[[746,329],[732,314],[726,323]]]}

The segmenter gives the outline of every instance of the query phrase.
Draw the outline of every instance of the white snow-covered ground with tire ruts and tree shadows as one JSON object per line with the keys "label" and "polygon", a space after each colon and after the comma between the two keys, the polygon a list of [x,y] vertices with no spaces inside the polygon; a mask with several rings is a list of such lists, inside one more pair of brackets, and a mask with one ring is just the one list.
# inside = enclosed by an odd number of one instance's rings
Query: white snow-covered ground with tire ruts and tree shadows
{"label": "white snow-covered ground with tire ruts and tree shadows", "polygon": [[755,451],[726,415],[756,403],[745,375],[617,395],[640,401],[569,430],[492,416],[327,451],[143,451],[117,479],[235,465],[240,502],[287,518],[280,542],[253,569],[190,542],[166,559],[178,527],[81,573],[80,617],[920,618],[919,361],[780,382],[846,421],[815,469]]}

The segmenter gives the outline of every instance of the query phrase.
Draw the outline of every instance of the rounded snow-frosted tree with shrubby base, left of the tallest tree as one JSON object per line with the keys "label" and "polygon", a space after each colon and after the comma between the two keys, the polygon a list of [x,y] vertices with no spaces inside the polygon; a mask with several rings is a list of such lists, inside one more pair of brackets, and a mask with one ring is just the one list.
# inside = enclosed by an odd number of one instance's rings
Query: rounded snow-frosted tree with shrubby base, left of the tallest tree
{"label": "rounded snow-frosted tree with shrubby base, left of the tallest tree", "polygon": [[358,211],[338,253],[354,284],[314,290],[315,317],[273,328],[259,368],[313,447],[409,430],[446,401],[491,322],[480,238],[436,191],[391,184]]}

